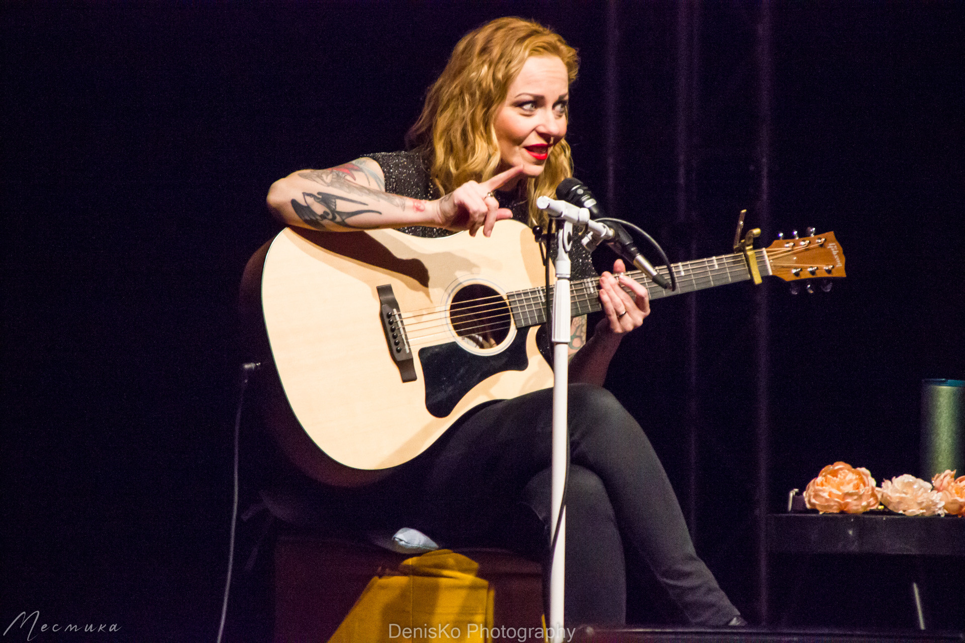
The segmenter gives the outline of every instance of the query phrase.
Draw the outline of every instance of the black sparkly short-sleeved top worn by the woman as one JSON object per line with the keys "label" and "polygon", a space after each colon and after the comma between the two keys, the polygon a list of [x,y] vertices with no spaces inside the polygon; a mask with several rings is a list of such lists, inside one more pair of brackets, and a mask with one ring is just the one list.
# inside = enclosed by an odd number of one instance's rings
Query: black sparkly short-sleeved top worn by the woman
{"label": "black sparkly short-sleeved top worn by the woman", "polygon": [[[440,197],[438,190],[429,178],[426,163],[418,152],[376,152],[374,154],[363,154],[363,156],[371,158],[382,168],[382,174],[385,175],[385,191],[389,194],[398,194],[402,197],[423,201],[432,201]],[[514,201],[514,195],[509,193],[496,191],[495,194],[500,207],[510,209],[513,219],[523,224],[528,223],[529,208],[525,200]],[[454,234],[454,232],[443,228],[424,226],[409,226],[399,229],[407,234],[430,238]],[[553,243],[550,248],[550,257],[554,258],[555,256],[556,248],[555,243]],[[571,279],[586,279],[597,276],[593,269],[590,253],[579,243],[574,243],[569,251],[569,261]]]}

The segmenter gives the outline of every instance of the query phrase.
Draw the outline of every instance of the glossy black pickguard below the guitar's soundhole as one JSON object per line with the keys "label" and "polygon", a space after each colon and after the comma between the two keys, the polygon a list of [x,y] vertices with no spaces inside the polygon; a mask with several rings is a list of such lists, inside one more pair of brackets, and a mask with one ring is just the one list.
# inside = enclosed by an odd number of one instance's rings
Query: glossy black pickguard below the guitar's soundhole
{"label": "glossy black pickguard below the guitar's soundhole", "polygon": [[506,370],[526,370],[526,335],[529,329],[516,331],[505,351],[492,356],[470,353],[458,342],[427,346],[419,350],[423,376],[426,378],[426,409],[436,417],[453,413],[455,405],[490,375]]}

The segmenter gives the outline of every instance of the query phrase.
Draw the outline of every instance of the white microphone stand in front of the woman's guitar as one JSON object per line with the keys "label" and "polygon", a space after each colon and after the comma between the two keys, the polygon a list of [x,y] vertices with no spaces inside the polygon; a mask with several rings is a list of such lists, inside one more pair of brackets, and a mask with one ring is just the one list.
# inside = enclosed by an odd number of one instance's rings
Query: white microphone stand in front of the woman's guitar
{"label": "white microphone stand in front of the woman's guitar", "polygon": [[565,201],[554,201],[539,197],[537,207],[546,210],[554,218],[563,219],[557,229],[556,282],[553,287],[553,319],[550,337],[553,342],[553,456],[552,487],[550,493],[550,545],[559,521],[560,532],[553,549],[549,575],[549,624],[552,631],[550,640],[562,643],[564,640],[564,595],[565,595],[565,552],[566,552],[566,508],[562,507],[566,481],[566,451],[569,448],[569,432],[566,428],[566,392],[569,384],[569,340],[570,340],[570,300],[569,300],[569,249],[573,240],[573,223],[584,225],[590,221],[587,208],[577,208]]}

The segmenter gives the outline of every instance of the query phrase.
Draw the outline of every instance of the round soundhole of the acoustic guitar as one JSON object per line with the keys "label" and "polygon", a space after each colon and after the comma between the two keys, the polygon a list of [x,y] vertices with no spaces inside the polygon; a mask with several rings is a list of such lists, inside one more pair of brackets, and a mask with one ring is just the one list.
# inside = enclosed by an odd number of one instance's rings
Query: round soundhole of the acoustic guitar
{"label": "round soundhole of the acoustic guitar", "polygon": [[459,340],[477,349],[499,346],[512,327],[509,304],[482,283],[470,283],[455,293],[449,321]]}

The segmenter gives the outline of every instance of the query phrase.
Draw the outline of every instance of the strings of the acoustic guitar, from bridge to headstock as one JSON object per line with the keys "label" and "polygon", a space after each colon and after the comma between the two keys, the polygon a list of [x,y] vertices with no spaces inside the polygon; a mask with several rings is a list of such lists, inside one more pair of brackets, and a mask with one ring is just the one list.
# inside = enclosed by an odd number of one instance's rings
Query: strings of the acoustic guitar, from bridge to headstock
{"label": "strings of the acoustic guitar, from bridge to headstock", "polygon": [[[768,258],[772,266],[786,267],[788,265],[796,267],[796,264],[785,264],[776,263],[773,258],[777,258],[779,255],[788,255],[794,252],[805,252],[807,249],[801,248],[788,248],[779,249],[776,251],[766,251]],[[783,256],[782,256],[783,258]],[[715,259],[722,259],[716,260]],[[713,267],[713,263],[716,263],[716,267]],[[703,263],[703,266],[698,264]],[[688,275],[684,270],[683,263],[673,264],[675,270],[677,270],[682,279],[681,287],[694,289],[699,289],[698,283],[705,284],[708,281],[713,283],[714,276],[721,276],[726,273],[727,277],[731,277],[731,268],[739,269],[740,273],[743,275],[743,271],[746,270],[746,262],[744,261],[743,255],[722,255],[719,257],[710,257],[706,259],[700,259],[695,262],[687,262],[686,265],[691,267],[690,274]],[[803,264],[809,265],[809,264]],[[694,269],[694,268],[697,269]],[[667,267],[661,266],[657,269],[658,272],[667,274]],[[645,282],[643,273],[640,271],[630,271],[625,273],[627,277],[630,277],[638,283],[642,283],[648,288],[650,296],[655,294],[660,294],[661,296],[666,296],[663,288],[660,288],[656,284],[651,284]],[[593,283],[593,285],[591,285]],[[552,287],[552,286],[551,286]],[[588,312],[599,309],[598,300],[598,285],[595,278],[590,278],[587,280],[574,281],[571,285],[571,296],[573,299],[573,304],[577,310],[582,311],[582,305],[590,304],[588,306]],[[632,293],[628,288],[623,288],[624,291]],[[420,344],[425,345],[434,341],[432,338],[439,335],[449,338],[452,337],[452,330],[456,331],[456,335],[479,335],[483,333],[494,333],[509,329],[511,327],[510,320],[512,319],[513,306],[518,310],[521,315],[524,314],[527,322],[530,322],[530,314],[533,314],[536,319],[534,320],[536,324],[544,321],[542,317],[544,316],[544,304],[542,292],[545,287],[532,288],[522,291],[515,291],[508,293],[508,299],[505,299],[502,295],[489,295],[485,297],[480,297],[472,300],[465,300],[463,302],[458,302],[458,308],[455,308],[457,312],[453,314],[447,307],[438,307],[435,309],[424,308],[422,310],[415,310],[409,313],[403,313],[401,315],[403,321],[413,320],[411,325],[406,326],[406,335],[410,344]],[[529,300],[529,301],[526,301]],[[441,313],[441,314],[440,314]],[[495,313],[495,314],[488,314]],[[427,317],[428,319],[422,319],[415,321],[415,317]],[[483,315],[483,316],[481,316]],[[492,321],[498,320],[498,321]],[[426,324],[433,324],[432,326],[425,326]],[[471,325],[475,324],[475,325]],[[424,325],[422,327],[416,328],[419,325]],[[533,325],[529,323],[527,325]],[[455,329],[453,328],[455,327]]]}

